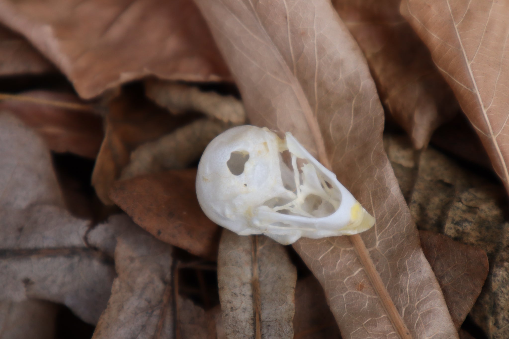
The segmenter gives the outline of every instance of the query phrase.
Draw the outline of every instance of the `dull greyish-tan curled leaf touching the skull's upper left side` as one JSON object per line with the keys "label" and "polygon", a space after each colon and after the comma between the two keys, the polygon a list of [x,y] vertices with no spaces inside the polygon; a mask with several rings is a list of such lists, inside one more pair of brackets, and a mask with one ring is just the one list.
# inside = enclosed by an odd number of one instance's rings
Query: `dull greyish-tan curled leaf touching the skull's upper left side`
{"label": "dull greyish-tan curled leaf touching the skull's upper left side", "polygon": [[197,119],[156,141],[144,143],[131,153],[120,179],[189,167],[200,159],[209,142],[227,128],[221,122]]}

